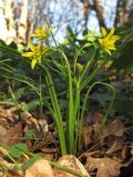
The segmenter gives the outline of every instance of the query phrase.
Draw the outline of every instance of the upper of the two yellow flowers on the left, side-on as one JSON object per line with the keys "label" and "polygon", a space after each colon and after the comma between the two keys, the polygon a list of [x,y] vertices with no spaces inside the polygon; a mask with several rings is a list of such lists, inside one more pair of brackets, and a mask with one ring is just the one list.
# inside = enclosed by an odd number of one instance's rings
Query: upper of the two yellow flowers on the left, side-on
{"label": "upper of the two yellow flowers on the left, side-on", "polygon": [[37,28],[34,33],[30,37],[37,38],[37,40],[44,40],[48,38],[49,33],[52,31],[52,28],[48,28],[48,24],[44,23],[42,28]]}

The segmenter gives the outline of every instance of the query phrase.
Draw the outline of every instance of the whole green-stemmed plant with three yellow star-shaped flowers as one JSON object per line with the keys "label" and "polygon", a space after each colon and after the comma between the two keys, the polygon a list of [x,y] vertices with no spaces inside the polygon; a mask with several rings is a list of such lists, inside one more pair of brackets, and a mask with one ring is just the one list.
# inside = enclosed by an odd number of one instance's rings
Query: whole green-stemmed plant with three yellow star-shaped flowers
{"label": "whole green-stemmed plant with three yellow star-shaped flowers", "polygon": [[[48,40],[48,35],[51,33],[51,28],[48,25],[43,25],[42,29],[37,29],[35,32],[31,35],[39,41],[37,46],[29,43],[29,46],[31,49],[31,52],[25,52],[22,54],[22,56],[27,56],[31,59],[31,67],[34,69],[35,64],[38,64],[42,70],[45,72],[45,82],[49,87],[49,94],[51,98],[51,106],[49,107],[51,115],[53,116],[53,119],[55,121],[57,128],[59,132],[59,138],[60,138],[60,145],[61,145],[61,152],[62,155],[69,153],[74,154],[76,153],[76,148],[80,148],[81,143],[81,132],[82,132],[82,122],[83,116],[86,107],[86,101],[89,97],[89,94],[93,86],[96,84],[102,84],[108,87],[110,87],[113,91],[113,98],[109,106],[109,110],[106,112],[106,115],[103,117],[102,125],[105,124],[108,113],[113,104],[114,100],[114,88],[103,82],[94,82],[90,88],[88,90],[83,106],[81,107],[81,92],[82,90],[99,73],[99,69],[104,64],[102,63],[98,69],[95,69],[90,75],[86,76],[86,72],[90,70],[92,64],[94,63],[95,58],[98,56],[98,52],[102,50],[103,52],[108,52],[108,54],[111,55],[112,50],[115,49],[115,42],[120,39],[120,37],[114,35],[114,28],[111,30],[111,32],[108,34],[106,30],[104,28],[102,30],[102,38],[98,39],[94,43],[86,43],[83,45],[75,54],[73,67],[71,67],[70,61],[66,58],[65,53],[63,52],[62,48],[57,44],[57,41],[53,38],[53,41],[55,42],[55,48],[53,46],[43,46],[42,41]],[[80,63],[78,63],[79,54],[82,50],[85,48],[93,48],[93,53],[90,58],[90,60],[86,62],[84,66],[80,70],[79,75],[76,75],[78,67],[80,69]],[[64,131],[63,128],[63,116],[61,113],[61,107],[58,101],[58,94],[55,92],[55,85],[53,82],[53,77],[50,73],[49,64],[47,63],[48,60],[44,59],[44,54],[48,51],[57,51],[61,55],[61,62],[53,61],[54,66],[57,70],[62,71],[66,74],[66,82],[68,82],[68,114],[66,114],[66,128]],[[43,60],[43,63],[41,61]],[[51,86],[52,85],[52,86]],[[75,137],[75,138],[74,138]]]}

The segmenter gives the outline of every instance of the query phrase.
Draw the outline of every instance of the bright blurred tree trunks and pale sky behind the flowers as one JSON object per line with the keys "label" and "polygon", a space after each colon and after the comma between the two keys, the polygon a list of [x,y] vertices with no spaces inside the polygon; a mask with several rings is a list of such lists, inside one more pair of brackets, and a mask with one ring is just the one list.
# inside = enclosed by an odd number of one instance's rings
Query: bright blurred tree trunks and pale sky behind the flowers
{"label": "bright blurred tree trunks and pale sky behind the flowers", "polygon": [[133,0],[0,0],[0,39],[25,44],[34,27],[45,19],[63,41],[68,28],[76,37],[100,27],[132,28]]}

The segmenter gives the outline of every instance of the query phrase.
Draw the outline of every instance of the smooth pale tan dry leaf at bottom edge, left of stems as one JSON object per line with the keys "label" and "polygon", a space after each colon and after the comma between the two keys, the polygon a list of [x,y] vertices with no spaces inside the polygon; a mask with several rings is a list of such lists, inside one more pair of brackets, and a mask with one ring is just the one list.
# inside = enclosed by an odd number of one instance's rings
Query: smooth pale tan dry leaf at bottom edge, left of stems
{"label": "smooth pale tan dry leaf at bottom edge, left of stems", "polygon": [[39,159],[25,170],[25,177],[54,177],[54,175],[49,162]]}

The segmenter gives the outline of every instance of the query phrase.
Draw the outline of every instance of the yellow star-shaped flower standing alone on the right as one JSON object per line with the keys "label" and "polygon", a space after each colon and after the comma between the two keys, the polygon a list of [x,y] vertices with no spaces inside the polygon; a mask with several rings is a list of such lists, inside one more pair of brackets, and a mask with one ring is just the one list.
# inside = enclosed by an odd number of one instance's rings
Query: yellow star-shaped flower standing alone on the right
{"label": "yellow star-shaped flower standing alone on the right", "polygon": [[112,50],[116,50],[115,42],[120,39],[119,35],[114,35],[114,28],[111,29],[110,33],[108,34],[104,28],[101,28],[102,31],[102,39],[99,39],[99,43],[102,45],[103,50],[111,55]]}

